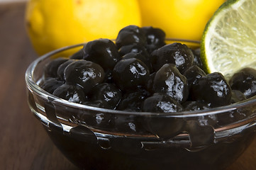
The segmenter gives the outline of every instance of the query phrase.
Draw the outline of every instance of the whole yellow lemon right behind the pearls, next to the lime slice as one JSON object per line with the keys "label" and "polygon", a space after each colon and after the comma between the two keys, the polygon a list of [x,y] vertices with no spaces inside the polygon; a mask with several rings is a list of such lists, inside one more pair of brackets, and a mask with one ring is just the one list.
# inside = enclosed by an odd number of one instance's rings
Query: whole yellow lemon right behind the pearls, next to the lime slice
{"label": "whole yellow lemon right behind the pearls, next to the lime slice", "polygon": [[142,26],[162,28],[168,38],[200,40],[225,0],[139,0]]}

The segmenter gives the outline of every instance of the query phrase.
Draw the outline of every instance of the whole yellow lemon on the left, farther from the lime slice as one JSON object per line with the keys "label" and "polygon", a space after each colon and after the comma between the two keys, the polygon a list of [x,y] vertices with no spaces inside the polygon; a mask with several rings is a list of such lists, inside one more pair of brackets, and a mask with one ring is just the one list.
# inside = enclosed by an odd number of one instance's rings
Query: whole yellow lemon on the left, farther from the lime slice
{"label": "whole yellow lemon on the left, farther from the lime slice", "polygon": [[26,28],[38,55],[97,38],[115,39],[121,28],[140,26],[136,0],[30,0]]}

